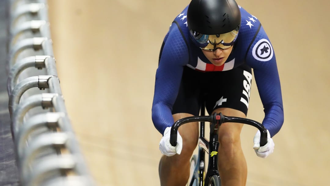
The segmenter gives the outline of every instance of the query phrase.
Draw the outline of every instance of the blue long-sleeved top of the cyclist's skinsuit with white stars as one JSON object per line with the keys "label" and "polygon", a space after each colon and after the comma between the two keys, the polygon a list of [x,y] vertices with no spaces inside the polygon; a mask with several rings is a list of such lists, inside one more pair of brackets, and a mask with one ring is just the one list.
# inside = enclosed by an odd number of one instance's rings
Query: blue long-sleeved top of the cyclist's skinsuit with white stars
{"label": "blue long-sleeved top of the cyclist's skinsuit with white stars", "polygon": [[[217,67],[191,40],[186,21],[187,8],[188,6],[174,19],[164,39],[152,105],[152,121],[156,129],[163,134],[166,127],[173,125],[171,111],[178,95],[183,66],[207,73],[247,64],[253,68],[264,106],[265,118],[262,123],[271,136],[274,136],[281,129],[284,120],[281,85],[274,50],[259,20],[240,7],[241,29],[233,52],[223,66]],[[248,107],[249,100],[246,101]]]}

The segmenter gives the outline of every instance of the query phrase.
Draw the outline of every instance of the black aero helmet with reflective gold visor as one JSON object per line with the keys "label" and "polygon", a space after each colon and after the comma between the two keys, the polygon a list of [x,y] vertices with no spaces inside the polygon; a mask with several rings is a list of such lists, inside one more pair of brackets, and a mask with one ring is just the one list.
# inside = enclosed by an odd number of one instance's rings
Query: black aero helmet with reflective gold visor
{"label": "black aero helmet with reflective gold visor", "polygon": [[229,48],[241,26],[240,8],[235,0],[192,0],[188,6],[187,25],[200,48]]}

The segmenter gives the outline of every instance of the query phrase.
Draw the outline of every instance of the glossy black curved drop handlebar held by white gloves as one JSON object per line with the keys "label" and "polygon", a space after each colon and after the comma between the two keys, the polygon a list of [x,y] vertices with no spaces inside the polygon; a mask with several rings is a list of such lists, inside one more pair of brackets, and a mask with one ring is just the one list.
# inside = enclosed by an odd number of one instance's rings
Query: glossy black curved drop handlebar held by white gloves
{"label": "glossy black curved drop handlebar held by white gloves", "polygon": [[260,146],[267,144],[267,129],[259,122],[239,117],[230,117],[222,115],[221,113],[214,113],[210,116],[192,116],[187,118],[182,118],[181,120],[176,121],[171,128],[170,143],[172,146],[177,145],[178,138],[178,128],[184,124],[194,121],[208,121],[211,123],[218,123],[219,125],[226,122],[235,122],[243,123],[256,127],[260,131]]}

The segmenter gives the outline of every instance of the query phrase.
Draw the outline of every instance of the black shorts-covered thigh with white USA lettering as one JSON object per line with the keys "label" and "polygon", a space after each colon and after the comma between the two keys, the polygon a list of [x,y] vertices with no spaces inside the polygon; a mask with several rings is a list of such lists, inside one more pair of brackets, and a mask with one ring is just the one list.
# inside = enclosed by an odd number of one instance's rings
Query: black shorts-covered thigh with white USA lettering
{"label": "black shorts-covered thigh with white USA lettering", "polygon": [[242,65],[232,70],[210,74],[206,84],[206,109],[230,108],[248,113],[251,90],[251,68]]}

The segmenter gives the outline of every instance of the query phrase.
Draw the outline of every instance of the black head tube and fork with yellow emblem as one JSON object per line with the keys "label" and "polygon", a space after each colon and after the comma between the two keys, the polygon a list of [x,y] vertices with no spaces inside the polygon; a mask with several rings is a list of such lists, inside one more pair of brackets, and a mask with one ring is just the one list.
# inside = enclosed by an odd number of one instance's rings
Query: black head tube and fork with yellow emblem
{"label": "black head tube and fork with yellow emblem", "polygon": [[[217,139],[217,135],[214,135],[214,138]],[[209,178],[213,175],[219,176],[218,171],[218,148],[219,148],[219,142],[211,141],[209,142],[209,166],[207,169],[207,173],[205,176],[205,186],[208,186],[209,184]]]}

